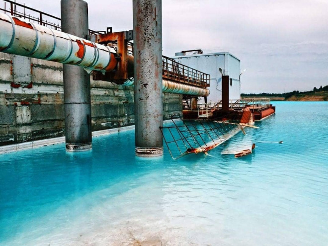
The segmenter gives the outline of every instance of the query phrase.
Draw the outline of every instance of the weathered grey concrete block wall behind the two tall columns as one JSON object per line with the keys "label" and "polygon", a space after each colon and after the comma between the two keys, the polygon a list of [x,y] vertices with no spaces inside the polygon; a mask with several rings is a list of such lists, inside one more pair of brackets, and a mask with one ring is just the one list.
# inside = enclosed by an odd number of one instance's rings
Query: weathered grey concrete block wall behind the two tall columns
{"label": "weathered grey concrete block wall behind the two tall columns", "polygon": [[[65,135],[63,66],[0,52],[0,146]],[[92,130],[134,124],[133,87],[91,80]],[[164,119],[182,96],[164,93]]]}

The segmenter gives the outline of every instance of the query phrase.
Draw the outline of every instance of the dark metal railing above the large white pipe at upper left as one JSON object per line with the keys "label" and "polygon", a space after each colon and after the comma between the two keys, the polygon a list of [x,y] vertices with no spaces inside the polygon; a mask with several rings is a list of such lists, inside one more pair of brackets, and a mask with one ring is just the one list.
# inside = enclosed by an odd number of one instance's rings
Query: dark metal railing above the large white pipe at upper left
{"label": "dark metal railing above the large white pipe at upper left", "polygon": [[[39,25],[47,26],[49,28],[55,30],[62,30],[61,27],[61,18],[42,12],[32,7],[28,7],[25,3],[20,4],[16,1],[11,0],[2,0],[3,8],[0,5],[0,11],[3,11],[6,14],[10,14],[12,16],[17,16],[23,19],[27,19],[33,23],[37,23]],[[46,18],[46,19],[45,19]],[[89,29],[89,35],[91,34],[101,34],[106,33],[106,31],[94,31]]]}

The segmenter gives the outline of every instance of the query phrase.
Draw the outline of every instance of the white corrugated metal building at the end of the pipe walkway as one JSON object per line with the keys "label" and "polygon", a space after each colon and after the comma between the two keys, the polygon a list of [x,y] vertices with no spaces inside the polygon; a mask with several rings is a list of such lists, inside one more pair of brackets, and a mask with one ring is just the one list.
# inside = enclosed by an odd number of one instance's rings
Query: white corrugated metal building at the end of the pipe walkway
{"label": "white corrugated metal building at the end of the pipe walkway", "polygon": [[[241,61],[236,56],[227,52],[184,56],[183,53],[179,52],[175,53],[175,56],[172,58],[183,65],[210,75],[210,95],[207,97],[207,102],[218,102],[222,99],[222,80],[219,68],[232,79],[232,84],[230,84],[229,88],[229,98],[231,100],[241,98],[241,82],[239,81]],[[201,99],[201,103],[204,103],[204,98]]]}

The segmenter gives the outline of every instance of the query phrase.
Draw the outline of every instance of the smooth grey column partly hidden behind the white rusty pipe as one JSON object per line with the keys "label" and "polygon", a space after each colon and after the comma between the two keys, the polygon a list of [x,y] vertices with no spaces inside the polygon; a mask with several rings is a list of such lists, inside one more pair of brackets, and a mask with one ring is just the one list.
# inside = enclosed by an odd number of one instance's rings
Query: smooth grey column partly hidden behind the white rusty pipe
{"label": "smooth grey column partly hidden behind the white rusty pipe", "polygon": [[[87,3],[61,0],[62,31],[86,38]],[[65,134],[67,151],[85,151],[92,147],[90,76],[80,67],[63,65]]]}

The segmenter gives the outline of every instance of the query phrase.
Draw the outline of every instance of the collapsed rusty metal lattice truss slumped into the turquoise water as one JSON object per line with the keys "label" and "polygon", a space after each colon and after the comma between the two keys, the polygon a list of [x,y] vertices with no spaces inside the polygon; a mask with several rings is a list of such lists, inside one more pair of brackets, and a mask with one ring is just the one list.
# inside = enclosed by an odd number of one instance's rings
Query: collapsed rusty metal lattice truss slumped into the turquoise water
{"label": "collapsed rusty metal lattice truss slumped into the turquoise water", "polygon": [[[231,112],[229,112],[231,114]],[[188,154],[207,154],[208,151],[226,142],[238,132],[244,134],[252,114],[247,104],[235,110],[234,118],[226,116],[198,120],[173,119],[172,125],[161,127],[164,142],[171,157],[179,159]]]}

